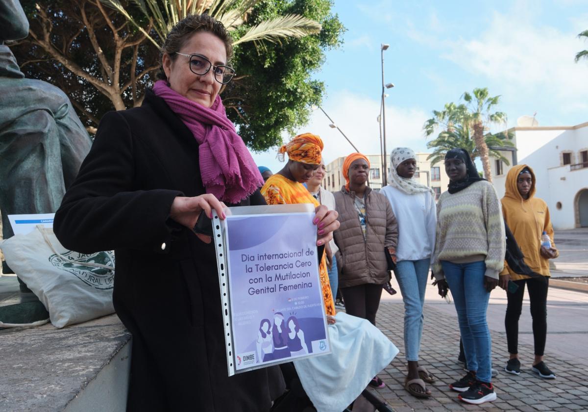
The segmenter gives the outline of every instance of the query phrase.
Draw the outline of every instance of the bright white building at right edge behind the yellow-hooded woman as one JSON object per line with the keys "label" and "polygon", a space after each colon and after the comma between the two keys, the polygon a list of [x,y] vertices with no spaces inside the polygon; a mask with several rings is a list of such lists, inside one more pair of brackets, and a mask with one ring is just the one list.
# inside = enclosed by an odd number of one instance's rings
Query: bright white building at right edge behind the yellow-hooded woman
{"label": "bright white building at right edge behind the yellow-hooded woman", "polygon": [[[537,178],[535,194],[547,202],[556,229],[588,227],[588,122],[564,127],[515,127],[517,151],[503,152],[517,164],[533,168]],[[505,194],[510,166],[492,158],[496,191]]]}

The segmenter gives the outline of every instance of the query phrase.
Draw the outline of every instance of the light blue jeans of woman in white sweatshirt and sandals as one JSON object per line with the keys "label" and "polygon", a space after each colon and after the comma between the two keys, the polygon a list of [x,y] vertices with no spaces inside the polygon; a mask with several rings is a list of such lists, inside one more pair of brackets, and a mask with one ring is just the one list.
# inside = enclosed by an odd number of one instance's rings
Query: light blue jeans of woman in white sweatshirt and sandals
{"label": "light blue jeans of woman in white sweatshirt and sandals", "polygon": [[423,304],[429,277],[430,259],[402,260],[396,263],[394,274],[400,285],[405,304],[405,357],[418,361],[420,337],[423,334]]}

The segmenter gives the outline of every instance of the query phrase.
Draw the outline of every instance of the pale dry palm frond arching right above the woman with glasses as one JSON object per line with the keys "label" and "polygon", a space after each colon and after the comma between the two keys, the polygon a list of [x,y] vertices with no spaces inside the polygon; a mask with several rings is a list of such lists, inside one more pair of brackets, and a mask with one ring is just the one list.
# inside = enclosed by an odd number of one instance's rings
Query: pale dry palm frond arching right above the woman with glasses
{"label": "pale dry palm frond arching right above the woman with glasses", "polygon": [[233,45],[247,41],[269,41],[281,44],[280,39],[300,38],[311,34],[318,34],[321,29],[322,26],[312,19],[296,14],[288,14],[263,21],[253,26],[243,36],[233,42]]}

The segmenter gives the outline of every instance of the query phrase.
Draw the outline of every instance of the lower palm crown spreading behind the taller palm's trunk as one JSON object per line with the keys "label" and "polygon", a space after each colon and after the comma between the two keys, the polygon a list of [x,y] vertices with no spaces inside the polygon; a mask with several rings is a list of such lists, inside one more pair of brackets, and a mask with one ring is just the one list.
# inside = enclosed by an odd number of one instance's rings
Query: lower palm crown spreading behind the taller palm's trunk
{"label": "lower palm crown spreading behind the taller palm's trunk", "polygon": [[[507,134],[500,132],[497,134],[486,133],[484,139],[487,147],[513,147],[514,144],[510,141],[512,137],[512,132]],[[466,149],[469,152],[472,161],[475,161],[476,158],[480,157],[480,151],[477,149],[476,143],[472,139],[469,127],[467,124],[465,126],[458,124],[453,127],[452,131],[440,132],[437,138],[427,143],[427,148],[435,149],[432,154],[427,157],[427,160],[430,160],[431,164],[439,164],[443,162],[445,154],[450,149],[456,147]],[[502,160],[506,165],[510,165],[509,160],[504,157],[499,150],[489,149],[489,152],[493,157]]]}

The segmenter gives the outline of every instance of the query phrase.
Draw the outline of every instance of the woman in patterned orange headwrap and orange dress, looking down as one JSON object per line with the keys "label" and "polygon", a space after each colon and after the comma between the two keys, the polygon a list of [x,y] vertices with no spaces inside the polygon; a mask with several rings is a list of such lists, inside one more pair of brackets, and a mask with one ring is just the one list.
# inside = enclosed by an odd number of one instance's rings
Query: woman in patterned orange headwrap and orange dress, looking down
{"label": "woman in patterned orange headwrap and orange dress, looking down", "polygon": [[[288,144],[280,147],[278,157],[283,161],[284,154],[288,154],[288,162],[275,175],[272,175],[261,188],[268,205],[312,203],[319,207],[319,202],[302,185],[307,182],[320,166],[323,141],[317,135],[300,134]],[[319,235],[325,228],[319,228]],[[326,259],[323,255],[320,261],[320,285],[328,315],[335,315],[335,304],[330,291],[329,274]]]}

